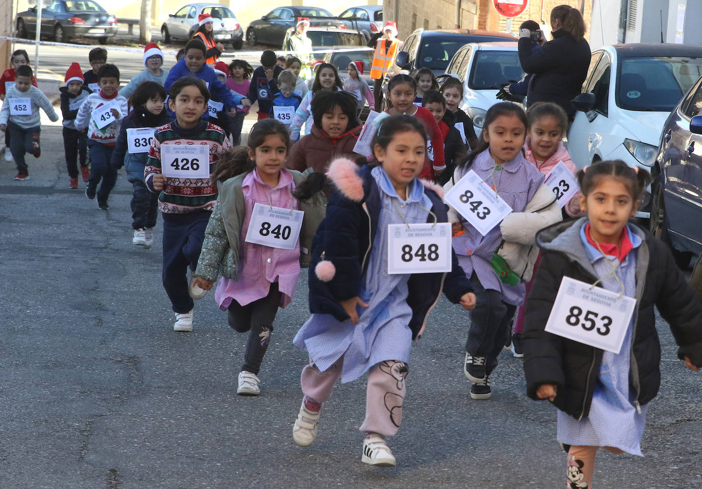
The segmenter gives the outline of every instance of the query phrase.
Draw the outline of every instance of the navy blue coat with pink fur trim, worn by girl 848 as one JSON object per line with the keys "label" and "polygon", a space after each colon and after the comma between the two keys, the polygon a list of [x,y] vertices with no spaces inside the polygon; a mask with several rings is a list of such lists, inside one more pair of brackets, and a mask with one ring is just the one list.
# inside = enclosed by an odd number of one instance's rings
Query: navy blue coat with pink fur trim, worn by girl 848
{"label": "navy blue coat with pink fur trim, worn by girl 848", "polygon": [[[349,319],[340,302],[357,297],[361,293],[367,272],[367,257],[378,231],[380,217],[380,192],[376,180],[371,175],[371,167],[363,166],[357,174],[363,186],[362,200],[351,199],[339,187],[334,189],[326,206],[326,217],[317,228],[312,241],[310,312],[331,314],[338,321]],[[424,193],[431,199],[432,213],[435,213],[439,222],[447,222],[446,205],[442,199],[432,189],[425,187]],[[429,215],[428,222],[433,222],[432,215]],[[320,261],[322,253],[324,260],[331,261],[336,268],[336,274],[329,282],[319,280],[314,274],[314,267]],[[409,328],[412,330],[413,339],[418,336],[426,316],[439,299],[442,282],[446,297],[454,304],[461,302],[461,297],[473,290],[458,264],[456,255],[453,251],[451,254],[451,272],[413,274],[409,279],[407,304],[412,309]]]}

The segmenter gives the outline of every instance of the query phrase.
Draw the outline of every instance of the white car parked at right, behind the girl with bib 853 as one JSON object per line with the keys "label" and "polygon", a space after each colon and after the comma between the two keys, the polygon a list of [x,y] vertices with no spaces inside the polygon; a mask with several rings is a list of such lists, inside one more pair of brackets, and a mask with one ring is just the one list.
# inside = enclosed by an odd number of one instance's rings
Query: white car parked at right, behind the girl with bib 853
{"label": "white car parked at right, behind the girl with bib 853", "polygon": [[[621,44],[594,51],[583,84],[583,93],[595,95],[594,106],[578,109],[568,131],[575,165],[621,159],[650,170],[665,119],[700,76],[702,46]],[[648,218],[650,205],[647,192],[637,217]]]}

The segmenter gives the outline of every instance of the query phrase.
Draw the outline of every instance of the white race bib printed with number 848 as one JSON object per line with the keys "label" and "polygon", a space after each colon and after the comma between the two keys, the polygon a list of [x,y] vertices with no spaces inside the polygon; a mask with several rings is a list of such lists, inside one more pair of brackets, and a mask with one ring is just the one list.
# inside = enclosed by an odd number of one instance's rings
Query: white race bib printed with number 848
{"label": "white race bib printed with number 848", "polygon": [[442,272],[451,272],[448,222],[388,225],[388,274]]}

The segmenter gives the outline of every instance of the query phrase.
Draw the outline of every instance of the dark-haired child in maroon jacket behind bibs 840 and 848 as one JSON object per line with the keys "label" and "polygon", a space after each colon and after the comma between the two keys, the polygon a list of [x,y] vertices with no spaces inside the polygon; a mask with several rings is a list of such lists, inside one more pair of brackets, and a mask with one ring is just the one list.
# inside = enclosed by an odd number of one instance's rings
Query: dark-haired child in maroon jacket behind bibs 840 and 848
{"label": "dark-haired child in maroon jacket behind bibs 840 and 848", "polygon": [[312,106],[312,133],[295,143],[286,165],[291,170],[314,168],[326,173],[329,163],[339,156],[357,158],[353,152],[361,125],[356,118],[356,99],[347,92],[321,91]]}

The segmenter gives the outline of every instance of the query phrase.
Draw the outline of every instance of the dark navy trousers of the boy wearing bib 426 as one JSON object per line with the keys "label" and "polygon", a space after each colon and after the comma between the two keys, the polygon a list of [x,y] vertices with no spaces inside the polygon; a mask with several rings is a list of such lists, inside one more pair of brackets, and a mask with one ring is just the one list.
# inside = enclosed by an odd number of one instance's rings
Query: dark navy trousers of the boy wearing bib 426
{"label": "dark navy trousers of the boy wearing bib 426", "polygon": [[190,312],[194,306],[187,290],[187,269],[194,271],[200,257],[205,228],[211,212],[200,210],[180,215],[164,215],[164,269],[161,279],[173,312]]}

